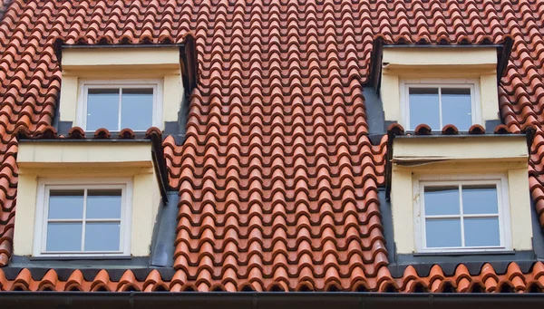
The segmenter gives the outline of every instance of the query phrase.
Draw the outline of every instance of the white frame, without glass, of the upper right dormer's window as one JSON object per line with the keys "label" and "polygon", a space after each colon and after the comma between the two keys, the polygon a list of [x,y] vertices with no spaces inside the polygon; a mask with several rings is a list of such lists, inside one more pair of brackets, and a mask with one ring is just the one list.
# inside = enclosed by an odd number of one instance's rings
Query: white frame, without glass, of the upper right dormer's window
{"label": "white frame, without glass, of the upper right dormer's window", "polygon": [[[439,89],[439,111],[440,111],[440,130],[449,123],[442,123],[442,94],[441,88],[470,88],[471,89],[471,116],[472,125],[481,124],[481,99],[480,99],[480,80],[474,79],[423,79],[423,80],[405,80],[401,82],[401,124],[406,130],[415,130],[410,128],[410,88],[438,88]],[[419,123],[418,123],[419,125]]]}

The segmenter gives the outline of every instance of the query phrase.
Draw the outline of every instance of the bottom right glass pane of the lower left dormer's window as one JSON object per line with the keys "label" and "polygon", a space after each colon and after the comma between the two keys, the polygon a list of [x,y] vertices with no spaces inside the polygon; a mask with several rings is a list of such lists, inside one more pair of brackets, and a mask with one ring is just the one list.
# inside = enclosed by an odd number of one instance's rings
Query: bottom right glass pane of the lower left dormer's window
{"label": "bottom right glass pane of the lower left dormer's window", "polygon": [[88,222],[85,227],[85,251],[119,251],[121,223]]}

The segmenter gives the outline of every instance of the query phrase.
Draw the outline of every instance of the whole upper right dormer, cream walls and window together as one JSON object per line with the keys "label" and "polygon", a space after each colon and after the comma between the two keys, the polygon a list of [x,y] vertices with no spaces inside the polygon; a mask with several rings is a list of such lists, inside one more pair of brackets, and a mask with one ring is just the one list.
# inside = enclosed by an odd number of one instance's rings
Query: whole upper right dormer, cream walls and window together
{"label": "whole upper right dormer, cream walls and window together", "polygon": [[492,46],[384,46],[379,83],[384,120],[405,130],[420,124],[433,131],[448,124],[461,131],[475,124],[494,129],[500,123],[502,54]]}

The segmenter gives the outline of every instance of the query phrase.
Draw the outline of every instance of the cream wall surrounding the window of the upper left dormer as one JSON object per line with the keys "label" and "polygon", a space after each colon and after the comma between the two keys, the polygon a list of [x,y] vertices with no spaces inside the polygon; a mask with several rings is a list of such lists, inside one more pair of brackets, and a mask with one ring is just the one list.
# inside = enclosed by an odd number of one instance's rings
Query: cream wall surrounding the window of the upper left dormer
{"label": "cream wall surrounding the window of the upper left dormer", "polygon": [[62,68],[60,121],[82,126],[77,115],[84,82],[138,80],[160,82],[160,129],[164,122],[178,121],[184,95],[178,47],[63,48]]}

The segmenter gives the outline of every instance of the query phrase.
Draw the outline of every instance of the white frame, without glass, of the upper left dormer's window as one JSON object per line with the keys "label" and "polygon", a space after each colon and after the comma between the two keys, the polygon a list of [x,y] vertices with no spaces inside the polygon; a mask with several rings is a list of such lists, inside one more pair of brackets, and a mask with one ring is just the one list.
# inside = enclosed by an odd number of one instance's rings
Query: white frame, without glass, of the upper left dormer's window
{"label": "white frame, without glass, of the upper left dormer's window", "polygon": [[[80,82],[79,99],[77,102],[77,117],[76,125],[87,130],[87,98],[89,89],[117,89],[117,88],[152,88],[153,89],[153,115],[151,125],[157,128],[161,128],[162,125],[162,80],[83,80]],[[121,127],[121,95],[119,96],[119,119],[118,126]],[[124,128],[118,128],[120,131]],[[131,128],[129,128],[131,129]]]}

